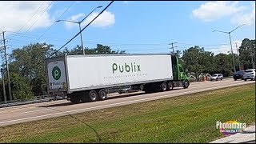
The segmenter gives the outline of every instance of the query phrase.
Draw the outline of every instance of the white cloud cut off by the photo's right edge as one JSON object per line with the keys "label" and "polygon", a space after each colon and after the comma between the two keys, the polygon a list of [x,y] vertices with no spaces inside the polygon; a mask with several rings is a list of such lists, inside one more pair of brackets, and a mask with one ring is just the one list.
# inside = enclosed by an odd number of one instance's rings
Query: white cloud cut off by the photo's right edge
{"label": "white cloud cut off by the photo's right edge", "polygon": [[238,13],[231,18],[231,23],[234,25],[242,25],[246,23],[248,26],[255,25],[255,2],[252,3],[252,9],[250,13],[243,14]]}

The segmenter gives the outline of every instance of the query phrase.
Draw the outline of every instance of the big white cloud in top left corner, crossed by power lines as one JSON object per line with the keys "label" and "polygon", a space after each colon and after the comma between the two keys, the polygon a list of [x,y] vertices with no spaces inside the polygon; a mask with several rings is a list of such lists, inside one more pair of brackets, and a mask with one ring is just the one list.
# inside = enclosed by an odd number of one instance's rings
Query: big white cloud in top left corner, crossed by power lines
{"label": "big white cloud in top left corner, crossed by power lines", "polygon": [[[40,9],[38,9],[39,6],[41,6]],[[47,9],[48,6],[50,6],[50,1],[44,1],[43,3],[40,1],[1,1],[0,30],[18,31],[24,26],[22,31],[26,31],[33,24],[34,26],[30,30],[50,26],[52,20],[48,11],[51,6]],[[45,10],[46,12],[43,13]],[[34,14],[36,11],[37,13]]]}

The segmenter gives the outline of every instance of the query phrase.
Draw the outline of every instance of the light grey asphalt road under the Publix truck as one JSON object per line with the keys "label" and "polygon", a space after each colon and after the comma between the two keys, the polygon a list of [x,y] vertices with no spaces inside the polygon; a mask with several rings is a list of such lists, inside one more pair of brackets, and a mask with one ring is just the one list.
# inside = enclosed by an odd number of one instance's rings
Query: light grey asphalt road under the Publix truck
{"label": "light grey asphalt road under the Publix truck", "polygon": [[230,86],[255,83],[255,81],[234,81],[233,78],[217,82],[193,82],[188,89],[175,88],[174,90],[154,94],[137,92],[133,94],[110,94],[105,101],[71,104],[67,100],[41,102],[23,106],[0,108],[0,126],[12,125],[20,122],[29,122],[44,118],[54,118],[68,114],[82,113],[90,110],[99,110],[108,107],[128,105],[136,102],[146,102],[159,98],[170,98],[184,94],[193,94],[206,90],[215,90]]}

